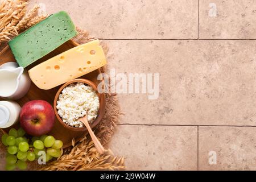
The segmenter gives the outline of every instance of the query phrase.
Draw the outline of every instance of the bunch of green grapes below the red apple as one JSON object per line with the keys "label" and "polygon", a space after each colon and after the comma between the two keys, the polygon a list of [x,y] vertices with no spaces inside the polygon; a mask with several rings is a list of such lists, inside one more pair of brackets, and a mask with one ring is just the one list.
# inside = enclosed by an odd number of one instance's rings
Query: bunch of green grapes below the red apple
{"label": "bunch of green grapes below the red apple", "polygon": [[48,135],[31,138],[22,128],[10,129],[8,134],[1,137],[1,142],[7,149],[5,166],[7,171],[13,171],[16,168],[26,170],[27,162],[40,158],[40,151],[46,153],[46,162],[62,155],[63,142],[61,140]]}

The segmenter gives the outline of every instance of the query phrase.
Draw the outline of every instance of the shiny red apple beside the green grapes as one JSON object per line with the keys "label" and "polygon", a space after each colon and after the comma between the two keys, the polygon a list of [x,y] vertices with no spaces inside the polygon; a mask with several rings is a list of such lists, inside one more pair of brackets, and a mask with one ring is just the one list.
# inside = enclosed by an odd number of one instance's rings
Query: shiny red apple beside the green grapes
{"label": "shiny red apple beside the green grapes", "polygon": [[55,121],[52,106],[42,100],[27,102],[20,111],[20,126],[27,134],[38,137],[49,133]]}

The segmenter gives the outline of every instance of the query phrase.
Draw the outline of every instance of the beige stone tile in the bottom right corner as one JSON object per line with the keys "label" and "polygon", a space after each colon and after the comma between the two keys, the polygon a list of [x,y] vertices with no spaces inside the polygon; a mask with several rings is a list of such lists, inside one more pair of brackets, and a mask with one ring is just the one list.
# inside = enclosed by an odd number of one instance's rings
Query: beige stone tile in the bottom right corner
{"label": "beige stone tile in the bottom right corner", "polygon": [[[199,169],[256,170],[255,133],[255,127],[199,127]],[[216,165],[209,165],[209,151],[216,151]]]}

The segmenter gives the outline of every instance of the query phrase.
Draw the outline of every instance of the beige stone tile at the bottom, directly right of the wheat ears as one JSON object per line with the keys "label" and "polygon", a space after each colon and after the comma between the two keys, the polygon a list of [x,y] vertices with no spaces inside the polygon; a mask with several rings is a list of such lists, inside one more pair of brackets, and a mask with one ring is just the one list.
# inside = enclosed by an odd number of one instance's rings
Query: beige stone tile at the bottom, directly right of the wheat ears
{"label": "beige stone tile at the bottom, directly right of the wheat ears", "polygon": [[197,169],[197,127],[118,126],[110,148],[128,170]]}

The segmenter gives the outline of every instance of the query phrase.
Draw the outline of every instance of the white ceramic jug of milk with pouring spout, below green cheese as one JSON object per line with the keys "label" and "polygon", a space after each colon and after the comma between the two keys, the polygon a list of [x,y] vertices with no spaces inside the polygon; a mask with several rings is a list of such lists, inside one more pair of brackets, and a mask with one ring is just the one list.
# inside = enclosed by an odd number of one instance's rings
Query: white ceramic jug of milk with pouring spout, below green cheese
{"label": "white ceramic jug of milk with pouring spout, below green cheese", "polygon": [[0,97],[6,100],[19,100],[30,89],[31,80],[24,68],[9,62],[0,66]]}

